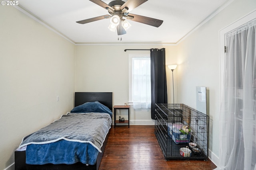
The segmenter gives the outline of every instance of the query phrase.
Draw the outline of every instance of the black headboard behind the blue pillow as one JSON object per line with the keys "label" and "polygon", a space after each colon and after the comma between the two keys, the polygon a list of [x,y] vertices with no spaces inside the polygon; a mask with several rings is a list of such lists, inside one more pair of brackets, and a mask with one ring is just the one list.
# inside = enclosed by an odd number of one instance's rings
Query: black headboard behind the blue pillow
{"label": "black headboard behind the blue pillow", "polygon": [[113,94],[112,92],[75,92],[75,107],[85,102],[99,101],[113,110]]}

